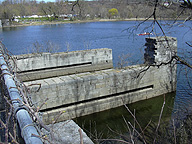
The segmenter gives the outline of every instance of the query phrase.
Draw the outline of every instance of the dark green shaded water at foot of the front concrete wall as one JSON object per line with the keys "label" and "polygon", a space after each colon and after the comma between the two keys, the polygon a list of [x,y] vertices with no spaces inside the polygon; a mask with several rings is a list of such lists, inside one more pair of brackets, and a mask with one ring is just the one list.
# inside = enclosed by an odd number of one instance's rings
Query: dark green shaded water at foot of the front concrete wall
{"label": "dark green shaded water at foot of the front concrete wall", "polygon": [[[169,122],[172,116],[175,93],[165,95],[165,106],[161,122]],[[149,121],[158,122],[164,96],[128,104],[129,109],[134,113],[141,127],[144,129]],[[81,126],[87,135],[92,139],[115,138],[118,134],[128,133],[125,120],[133,124],[133,117],[125,106],[106,110],[99,113],[83,116],[74,119]]]}

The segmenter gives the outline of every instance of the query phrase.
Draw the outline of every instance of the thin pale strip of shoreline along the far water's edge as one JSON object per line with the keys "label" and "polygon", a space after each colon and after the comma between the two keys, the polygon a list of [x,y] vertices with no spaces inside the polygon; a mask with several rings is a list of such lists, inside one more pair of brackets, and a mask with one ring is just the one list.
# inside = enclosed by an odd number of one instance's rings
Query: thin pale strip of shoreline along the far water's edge
{"label": "thin pale strip of shoreline along the far water's edge", "polygon": [[[72,24],[72,23],[89,23],[89,22],[115,22],[115,21],[152,21],[153,18],[127,18],[127,19],[94,19],[94,20],[74,20],[74,21],[43,21],[43,22],[31,22],[29,24],[12,24],[9,26],[2,26],[0,28],[7,27],[25,27],[25,26],[38,26],[38,25],[54,25],[54,24]],[[174,20],[170,18],[157,19],[157,20]],[[184,19],[177,19],[184,20]]]}

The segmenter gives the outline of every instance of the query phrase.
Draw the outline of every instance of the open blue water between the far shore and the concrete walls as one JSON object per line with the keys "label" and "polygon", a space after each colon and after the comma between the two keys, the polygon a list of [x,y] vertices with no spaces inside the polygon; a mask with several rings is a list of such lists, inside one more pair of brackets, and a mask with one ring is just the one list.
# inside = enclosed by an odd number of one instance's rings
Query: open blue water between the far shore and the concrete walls
{"label": "open blue water between the far shore and the concrete walls", "polygon": [[[118,56],[127,53],[137,60],[143,56],[145,44],[145,37],[137,34],[150,32],[152,22],[136,29],[138,23],[139,21],[119,21],[3,28],[0,29],[0,39],[13,54],[30,52],[35,42],[51,41],[60,47],[59,51],[66,51],[67,45],[70,51],[111,48],[114,62],[118,60]],[[187,23],[187,26],[190,25],[191,22]],[[164,27],[167,36],[178,38],[179,48],[183,48],[186,41],[191,41],[192,34],[187,26]],[[162,35],[160,29],[155,27],[154,32]]]}

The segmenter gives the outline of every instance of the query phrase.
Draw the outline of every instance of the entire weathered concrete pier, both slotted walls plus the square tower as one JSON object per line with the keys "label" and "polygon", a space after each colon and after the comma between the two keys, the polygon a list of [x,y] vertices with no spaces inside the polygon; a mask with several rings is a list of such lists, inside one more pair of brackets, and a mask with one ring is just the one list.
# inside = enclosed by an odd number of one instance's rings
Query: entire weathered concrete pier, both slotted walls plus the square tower
{"label": "entire weathered concrete pier, both slotted walls plus the square tower", "polygon": [[16,56],[20,79],[41,108],[46,124],[159,96],[176,89],[172,37],[146,39],[145,64],[112,68],[112,51],[95,49],[69,53]]}

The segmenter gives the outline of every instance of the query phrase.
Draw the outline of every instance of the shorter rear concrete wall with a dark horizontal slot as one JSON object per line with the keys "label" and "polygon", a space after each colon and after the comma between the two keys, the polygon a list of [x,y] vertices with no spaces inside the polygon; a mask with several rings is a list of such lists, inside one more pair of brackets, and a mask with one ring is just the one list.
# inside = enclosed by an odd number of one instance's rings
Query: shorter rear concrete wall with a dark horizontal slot
{"label": "shorter rear concrete wall with a dark horizontal slot", "polygon": [[[109,69],[113,67],[112,51],[97,49],[67,53],[42,53],[14,56],[22,81],[38,80]],[[14,65],[14,63],[13,63]]]}

